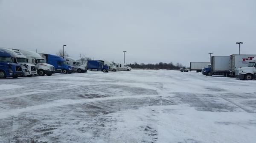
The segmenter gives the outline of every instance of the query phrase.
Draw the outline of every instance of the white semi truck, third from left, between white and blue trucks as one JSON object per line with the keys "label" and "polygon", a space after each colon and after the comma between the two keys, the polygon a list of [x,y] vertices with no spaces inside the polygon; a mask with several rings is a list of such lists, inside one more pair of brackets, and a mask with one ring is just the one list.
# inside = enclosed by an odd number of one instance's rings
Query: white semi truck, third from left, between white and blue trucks
{"label": "white semi truck, third from left, between white and blue trucks", "polygon": [[34,64],[39,76],[51,76],[55,73],[54,66],[51,64],[45,63],[45,59],[42,58],[39,53],[30,50],[19,50],[20,53],[23,53],[28,59],[30,64]]}

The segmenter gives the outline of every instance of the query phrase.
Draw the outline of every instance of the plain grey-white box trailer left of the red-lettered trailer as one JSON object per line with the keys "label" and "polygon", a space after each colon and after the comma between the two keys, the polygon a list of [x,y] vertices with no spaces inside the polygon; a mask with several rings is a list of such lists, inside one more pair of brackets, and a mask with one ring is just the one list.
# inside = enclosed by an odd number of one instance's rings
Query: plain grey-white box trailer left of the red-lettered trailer
{"label": "plain grey-white box trailer left of the red-lettered trailer", "polygon": [[212,56],[211,59],[211,72],[213,75],[229,75],[230,56]]}

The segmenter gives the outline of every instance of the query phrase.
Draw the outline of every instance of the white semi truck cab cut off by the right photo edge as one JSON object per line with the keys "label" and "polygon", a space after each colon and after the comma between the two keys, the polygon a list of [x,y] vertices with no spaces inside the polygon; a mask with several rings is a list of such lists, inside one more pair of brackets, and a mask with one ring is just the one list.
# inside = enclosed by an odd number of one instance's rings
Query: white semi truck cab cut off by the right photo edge
{"label": "white semi truck cab cut off by the right photo edge", "polygon": [[240,67],[235,77],[240,80],[256,79],[256,57],[248,62],[247,67]]}

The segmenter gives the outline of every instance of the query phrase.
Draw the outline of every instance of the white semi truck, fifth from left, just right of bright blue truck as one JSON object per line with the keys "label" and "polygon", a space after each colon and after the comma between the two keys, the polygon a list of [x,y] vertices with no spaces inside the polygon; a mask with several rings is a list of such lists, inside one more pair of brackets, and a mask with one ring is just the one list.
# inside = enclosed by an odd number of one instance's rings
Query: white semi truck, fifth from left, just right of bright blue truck
{"label": "white semi truck, fifth from left, just right of bright blue truck", "polygon": [[78,60],[73,59],[68,56],[64,56],[63,59],[66,60],[68,65],[72,65],[74,67],[74,72],[78,72],[78,73],[87,72],[86,67],[83,66],[82,64],[80,64],[80,62],[78,62]]}

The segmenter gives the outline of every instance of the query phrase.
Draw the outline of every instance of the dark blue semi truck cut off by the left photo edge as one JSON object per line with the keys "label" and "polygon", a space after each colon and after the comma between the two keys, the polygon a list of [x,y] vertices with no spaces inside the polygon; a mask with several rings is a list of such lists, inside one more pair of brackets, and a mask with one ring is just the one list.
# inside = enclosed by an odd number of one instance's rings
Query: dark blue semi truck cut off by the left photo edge
{"label": "dark blue semi truck cut off by the left photo edge", "polygon": [[21,65],[12,62],[11,54],[0,50],[0,79],[6,77],[17,78],[23,76],[23,74]]}

